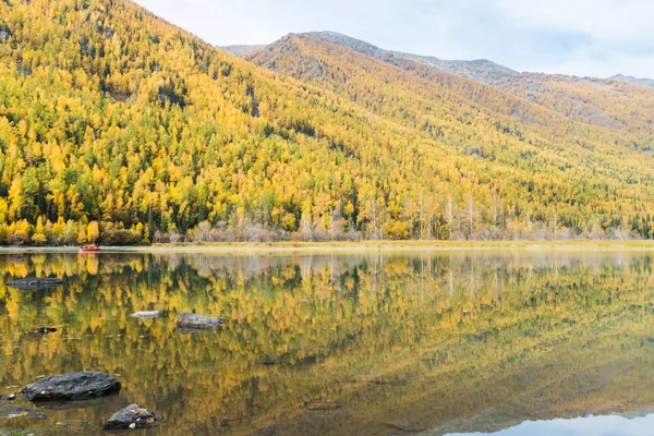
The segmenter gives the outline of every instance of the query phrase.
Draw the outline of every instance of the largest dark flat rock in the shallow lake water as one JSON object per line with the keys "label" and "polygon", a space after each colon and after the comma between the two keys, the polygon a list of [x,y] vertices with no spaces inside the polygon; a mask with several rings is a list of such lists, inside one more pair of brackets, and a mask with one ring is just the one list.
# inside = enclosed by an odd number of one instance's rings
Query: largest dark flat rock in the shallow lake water
{"label": "largest dark flat rock in the shallow lake water", "polygon": [[118,392],[120,387],[109,374],[82,371],[44,378],[25,386],[21,393],[29,401],[77,401]]}

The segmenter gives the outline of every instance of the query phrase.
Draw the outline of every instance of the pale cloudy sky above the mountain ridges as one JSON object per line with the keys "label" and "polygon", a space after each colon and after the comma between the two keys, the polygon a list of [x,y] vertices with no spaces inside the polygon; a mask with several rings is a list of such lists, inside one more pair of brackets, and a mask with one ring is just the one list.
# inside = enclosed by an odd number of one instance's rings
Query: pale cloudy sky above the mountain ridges
{"label": "pale cloudy sky above the mountain ridges", "polygon": [[654,0],[136,0],[217,45],[334,31],[519,71],[654,77]]}

